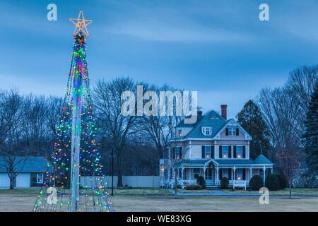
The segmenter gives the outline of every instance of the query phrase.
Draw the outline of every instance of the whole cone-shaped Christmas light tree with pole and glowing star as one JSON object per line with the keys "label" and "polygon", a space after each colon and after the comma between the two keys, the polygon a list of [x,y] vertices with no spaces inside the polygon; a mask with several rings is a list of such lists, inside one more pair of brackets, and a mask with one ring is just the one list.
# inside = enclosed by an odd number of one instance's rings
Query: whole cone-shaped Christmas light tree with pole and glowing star
{"label": "whole cone-shaped Christmas light tree with pole and glowing star", "polygon": [[74,47],[64,105],[49,170],[35,211],[112,211],[102,177],[96,143],[95,118],[90,100],[86,59],[87,25],[81,11],[76,19]]}

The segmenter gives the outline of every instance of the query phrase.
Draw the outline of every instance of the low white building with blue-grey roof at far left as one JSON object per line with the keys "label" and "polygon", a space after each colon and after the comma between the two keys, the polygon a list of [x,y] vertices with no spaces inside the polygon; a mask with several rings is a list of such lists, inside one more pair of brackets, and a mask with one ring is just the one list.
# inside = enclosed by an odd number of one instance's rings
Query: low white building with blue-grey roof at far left
{"label": "low white building with blue-grey roof at far left", "polygon": [[[15,157],[16,177],[15,187],[28,188],[30,186],[42,186],[47,171],[47,160],[45,157],[27,157],[26,160],[20,160],[24,157]],[[0,156],[0,188],[10,187],[10,179],[7,172],[7,163],[5,157]]]}

